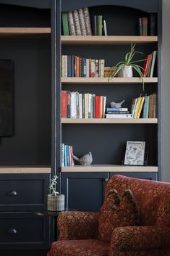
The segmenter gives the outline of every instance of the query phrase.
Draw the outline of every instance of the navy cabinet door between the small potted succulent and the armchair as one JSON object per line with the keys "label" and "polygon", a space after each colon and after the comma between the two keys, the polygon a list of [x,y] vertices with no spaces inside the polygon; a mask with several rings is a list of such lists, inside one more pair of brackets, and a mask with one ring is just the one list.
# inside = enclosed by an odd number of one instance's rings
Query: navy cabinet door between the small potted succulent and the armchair
{"label": "navy cabinet door between the small potted succulent and the armchair", "polygon": [[109,173],[62,173],[66,206],[82,211],[100,210],[108,180]]}

